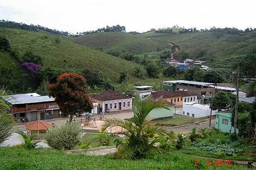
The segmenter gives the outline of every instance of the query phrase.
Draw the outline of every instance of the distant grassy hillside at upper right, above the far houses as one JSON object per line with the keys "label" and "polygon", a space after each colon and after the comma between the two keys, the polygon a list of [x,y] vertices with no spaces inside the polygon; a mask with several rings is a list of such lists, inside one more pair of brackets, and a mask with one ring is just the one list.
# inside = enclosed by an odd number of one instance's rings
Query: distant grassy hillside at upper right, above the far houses
{"label": "distant grassy hillside at upper right, above the far houses", "polygon": [[200,52],[205,52],[202,59],[211,60],[219,67],[229,65],[233,57],[248,52],[256,46],[256,32],[235,34],[216,33],[154,33],[141,36],[168,47],[168,41],[180,47],[180,52],[187,52],[189,58],[196,59]]}

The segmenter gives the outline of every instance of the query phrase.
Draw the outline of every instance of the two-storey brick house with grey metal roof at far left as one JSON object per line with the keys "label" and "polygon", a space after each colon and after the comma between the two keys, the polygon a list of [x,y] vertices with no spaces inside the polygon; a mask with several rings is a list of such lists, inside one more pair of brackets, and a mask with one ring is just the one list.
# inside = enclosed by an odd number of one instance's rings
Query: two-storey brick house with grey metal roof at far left
{"label": "two-storey brick house with grey metal roof at far left", "polygon": [[2,96],[11,105],[10,113],[19,122],[59,118],[61,111],[54,98],[37,93]]}

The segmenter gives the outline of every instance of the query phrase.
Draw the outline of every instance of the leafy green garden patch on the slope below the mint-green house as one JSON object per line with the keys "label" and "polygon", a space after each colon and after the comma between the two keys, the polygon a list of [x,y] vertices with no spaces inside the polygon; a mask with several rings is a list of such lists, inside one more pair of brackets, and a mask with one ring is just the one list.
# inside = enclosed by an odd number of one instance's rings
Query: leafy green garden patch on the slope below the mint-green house
{"label": "leafy green garden patch on the slope below the mint-green house", "polygon": [[175,153],[185,153],[202,157],[213,157],[231,160],[256,161],[256,146],[249,146],[245,139],[231,141],[229,134],[212,134],[211,137],[199,138],[195,144],[186,145]]}

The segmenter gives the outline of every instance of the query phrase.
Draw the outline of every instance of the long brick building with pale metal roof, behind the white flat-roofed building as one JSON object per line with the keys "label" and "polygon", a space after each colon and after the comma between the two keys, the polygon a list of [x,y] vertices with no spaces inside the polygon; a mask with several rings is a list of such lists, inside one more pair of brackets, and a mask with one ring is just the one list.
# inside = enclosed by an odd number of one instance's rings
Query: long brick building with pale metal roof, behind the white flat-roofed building
{"label": "long brick building with pale metal roof, behind the white flat-roofed building", "polygon": [[177,92],[177,91],[189,91],[193,92],[201,104],[208,104],[215,93],[215,88],[209,85],[215,85],[214,83],[205,83],[197,81],[187,80],[174,80],[164,81],[163,89],[165,91]]}

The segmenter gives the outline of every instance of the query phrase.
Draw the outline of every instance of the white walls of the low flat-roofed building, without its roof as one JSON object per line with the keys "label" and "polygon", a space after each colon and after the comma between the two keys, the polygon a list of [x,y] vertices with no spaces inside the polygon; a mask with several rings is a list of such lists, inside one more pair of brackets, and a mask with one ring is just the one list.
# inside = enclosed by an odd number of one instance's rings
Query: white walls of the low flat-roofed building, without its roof
{"label": "white walls of the low flat-roofed building, without its roof", "polygon": [[[182,112],[180,112],[180,114],[188,116],[187,113],[189,113],[190,117],[192,117],[192,114],[195,114],[194,118],[201,118],[210,116],[210,109],[198,108],[194,105],[183,104]],[[216,115],[216,111],[212,111],[212,115]]]}

